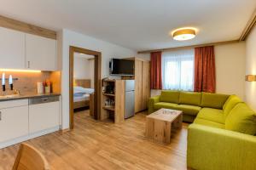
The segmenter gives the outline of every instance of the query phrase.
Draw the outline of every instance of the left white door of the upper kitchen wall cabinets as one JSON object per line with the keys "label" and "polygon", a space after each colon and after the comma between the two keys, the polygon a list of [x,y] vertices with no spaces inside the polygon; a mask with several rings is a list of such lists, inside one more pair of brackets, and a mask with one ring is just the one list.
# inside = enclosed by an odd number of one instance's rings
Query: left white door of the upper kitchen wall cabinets
{"label": "left white door of the upper kitchen wall cabinets", "polygon": [[0,68],[25,69],[25,34],[0,27]]}

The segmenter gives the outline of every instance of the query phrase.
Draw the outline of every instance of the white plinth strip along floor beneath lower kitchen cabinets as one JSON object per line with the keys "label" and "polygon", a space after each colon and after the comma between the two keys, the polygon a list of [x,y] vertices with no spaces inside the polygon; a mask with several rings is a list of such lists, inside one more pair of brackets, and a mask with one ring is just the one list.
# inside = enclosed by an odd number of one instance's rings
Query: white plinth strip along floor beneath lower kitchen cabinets
{"label": "white plinth strip along floor beneath lower kitchen cabinets", "polygon": [[39,131],[37,133],[30,133],[30,134],[27,134],[25,136],[21,136],[19,138],[15,138],[15,139],[11,139],[11,140],[8,140],[8,141],[1,142],[0,143],[0,149],[3,149],[5,147],[8,147],[8,146],[11,146],[11,145],[14,145],[14,144],[19,144],[19,143],[24,142],[26,140],[34,139],[34,138],[37,138],[39,136],[43,136],[45,134],[54,133],[54,132],[58,131],[59,129],[60,129],[59,126],[51,127],[51,128]]}

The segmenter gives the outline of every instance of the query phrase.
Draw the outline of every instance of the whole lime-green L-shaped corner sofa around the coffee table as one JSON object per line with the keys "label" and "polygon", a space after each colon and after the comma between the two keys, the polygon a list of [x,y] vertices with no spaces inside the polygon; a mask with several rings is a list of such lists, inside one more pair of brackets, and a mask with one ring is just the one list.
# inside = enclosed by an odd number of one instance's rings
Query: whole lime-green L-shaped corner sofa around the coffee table
{"label": "whole lime-green L-shaped corner sofa around the coffee table", "polygon": [[183,111],[188,128],[187,165],[198,170],[256,169],[256,113],[236,95],[162,91],[148,101]]}

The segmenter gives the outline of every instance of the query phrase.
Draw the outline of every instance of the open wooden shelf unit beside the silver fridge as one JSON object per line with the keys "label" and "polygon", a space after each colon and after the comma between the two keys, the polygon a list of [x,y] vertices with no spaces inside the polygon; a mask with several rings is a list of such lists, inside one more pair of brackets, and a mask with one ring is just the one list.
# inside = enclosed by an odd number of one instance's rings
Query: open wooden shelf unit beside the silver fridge
{"label": "open wooden shelf unit beside the silver fridge", "polygon": [[[102,115],[101,120],[110,118],[113,114],[115,123],[125,120],[125,81],[124,80],[102,80],[102,86],[105,87],[111,84],[114,87],[114,94],[102,93]],[[113,106],[106,106],[105,101],[113,99]]]}

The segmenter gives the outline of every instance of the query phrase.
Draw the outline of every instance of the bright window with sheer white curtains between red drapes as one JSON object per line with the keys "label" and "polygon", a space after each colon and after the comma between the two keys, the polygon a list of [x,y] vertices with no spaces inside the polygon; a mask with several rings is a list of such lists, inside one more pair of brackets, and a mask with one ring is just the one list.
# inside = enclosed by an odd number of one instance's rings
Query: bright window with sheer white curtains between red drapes
{"label": "bright window with sheer white curtains between red drapes", "polygon": [[162,80],[164,89],[194,90],[194,49],[162,54]]}

